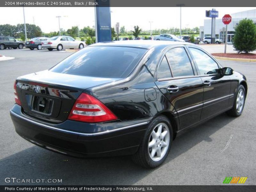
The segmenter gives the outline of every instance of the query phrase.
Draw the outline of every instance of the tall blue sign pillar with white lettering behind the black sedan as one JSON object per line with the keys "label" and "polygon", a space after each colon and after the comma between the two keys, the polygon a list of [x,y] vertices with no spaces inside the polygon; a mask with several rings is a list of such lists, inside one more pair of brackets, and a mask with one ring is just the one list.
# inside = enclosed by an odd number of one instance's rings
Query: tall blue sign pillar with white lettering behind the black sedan
{"label": "tall blue sign pillar with white lettering behind the black sedan", "polygon": [[[102,5],[101,5],[102,4]],[[111,41],[111,16],[109,0],[99,2],[99,6],[95,8],[95,19],[96,19],[96,39],[97,42]],[[103,7],[104,6],[104,7]]]}

